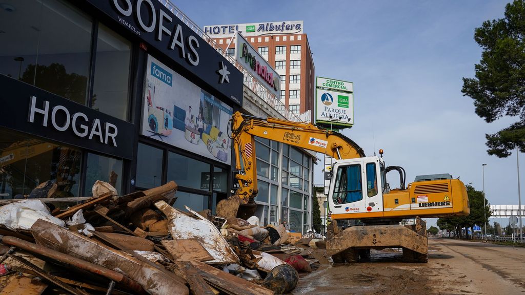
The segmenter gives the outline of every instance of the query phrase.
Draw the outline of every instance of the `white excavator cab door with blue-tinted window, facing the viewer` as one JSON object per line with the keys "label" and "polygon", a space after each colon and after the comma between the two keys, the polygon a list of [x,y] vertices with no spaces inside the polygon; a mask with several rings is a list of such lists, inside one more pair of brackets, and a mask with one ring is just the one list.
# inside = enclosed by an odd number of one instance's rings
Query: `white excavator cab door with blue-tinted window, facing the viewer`
{"label": "white excavator cab door with blue-tinted window, facing the viewer", "polygon": [[332,215],[366,212],[364,162],[336,163],[333,170],[329,201]]}

